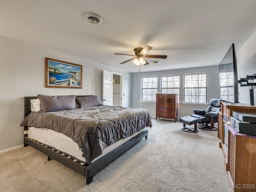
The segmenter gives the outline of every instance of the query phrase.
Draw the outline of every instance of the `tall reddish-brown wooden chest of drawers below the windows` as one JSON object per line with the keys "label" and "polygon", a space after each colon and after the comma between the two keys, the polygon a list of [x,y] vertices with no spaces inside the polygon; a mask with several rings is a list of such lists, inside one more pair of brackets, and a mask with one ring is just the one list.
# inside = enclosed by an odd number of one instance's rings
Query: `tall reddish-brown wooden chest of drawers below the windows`
{"label": "tall reddish-brown wooden chest of drawers below the windows", "polygon": [[156,94],[157,118],[177,120],[177,94]]}

